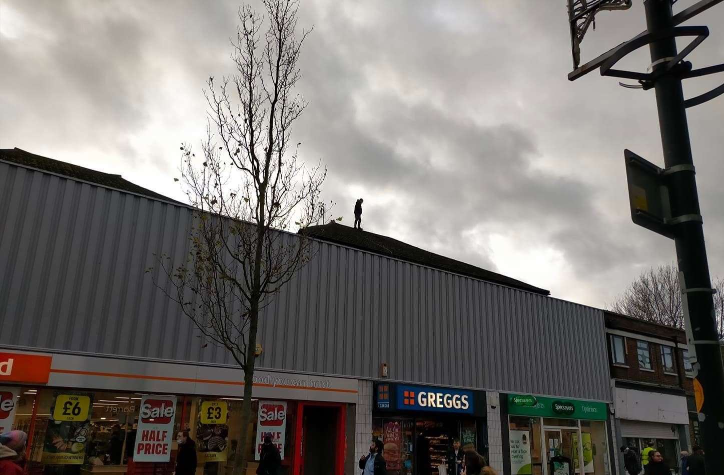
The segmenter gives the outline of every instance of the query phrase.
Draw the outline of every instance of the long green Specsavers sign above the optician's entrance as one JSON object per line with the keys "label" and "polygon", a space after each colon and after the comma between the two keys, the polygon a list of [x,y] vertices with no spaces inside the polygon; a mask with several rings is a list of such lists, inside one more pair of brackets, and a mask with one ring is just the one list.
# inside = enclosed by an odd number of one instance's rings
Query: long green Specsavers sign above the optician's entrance
{"label": "long green Specsavers sign above the optician's entrance", "polygon": [[608,407],[605,403],[543,398],[532,395],[509,394],[508,414],[513,416],[560,417],[605,421]]}

